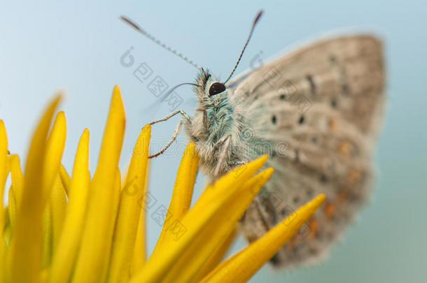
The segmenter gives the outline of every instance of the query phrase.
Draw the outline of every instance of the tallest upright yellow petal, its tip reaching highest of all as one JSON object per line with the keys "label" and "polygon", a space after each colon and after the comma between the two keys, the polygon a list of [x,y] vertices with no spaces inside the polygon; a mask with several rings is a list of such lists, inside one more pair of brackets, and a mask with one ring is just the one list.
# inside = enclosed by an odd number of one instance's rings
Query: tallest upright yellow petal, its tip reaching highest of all
{"label": "tallest upright yellow petal, its tip reaching highest of all", "polygon": [[83,232],[80,254],[73,282],[99,282],[106,273],[109,257],[105,251],[111,247],[109,235],[113,231],[116,215],[116,173],[125,131],[125,110],[120,90],[115,87],[104,138],[99,152],[97,169],[90,183],[90,201]]}

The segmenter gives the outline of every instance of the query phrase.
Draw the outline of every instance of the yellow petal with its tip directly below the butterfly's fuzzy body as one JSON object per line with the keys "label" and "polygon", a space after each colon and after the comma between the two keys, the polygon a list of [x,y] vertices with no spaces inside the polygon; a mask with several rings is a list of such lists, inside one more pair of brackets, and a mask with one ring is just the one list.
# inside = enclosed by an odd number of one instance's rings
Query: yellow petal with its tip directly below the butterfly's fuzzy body
{"label": "yellow petal with its tip directly below the butterfly's fuzzy body", "polygon": [[[176,173],[176,180],[172,198],[167,209],[167,215],[162,227],[162,232],[158,238],[156,247],[162,245],[165,241],[173,241],[174,233],[171,233],[171,225],[176,220],[181,220],[182,217],[188,212],[190,208],[191,198],[193,196],[193,188],[197,175],[197,164],[199,157],[195,150],[195,144],[189,143],[184,150],[181,164],[179,164],[178,172]],[[172,226],[173,227],[173,226]]]}

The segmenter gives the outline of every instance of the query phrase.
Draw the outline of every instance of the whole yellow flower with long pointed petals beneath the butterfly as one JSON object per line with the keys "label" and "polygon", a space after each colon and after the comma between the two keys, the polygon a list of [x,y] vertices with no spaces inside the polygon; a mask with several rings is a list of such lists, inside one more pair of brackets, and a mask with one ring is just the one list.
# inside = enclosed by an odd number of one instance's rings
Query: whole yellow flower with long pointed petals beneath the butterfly
{"label": "whole yellow flower with long pointed petals beneath the butterfly", "polygon": [[[125,110],[113,90],[97,168],[88,169],[89,131],[76,150],[71,177],[61,164],[64,113],[50,123],[60,101],[45,110],[29,145],[25,174],[8,154],[0,120],[0,196],[10,173],[8,206],[0,209],[1,282],[245,282],[307,221],[320,195],[262,238],[221,262],[235,226],[272,174],[258,170],[260,157],[218,179],[190,208],[199,161],[195,146],[184,151],[162,233],[146,260],[146,188],[151,126],[142,129],[125,181],[118,160]],[[221,263],[220,263],[221,262]]]}

